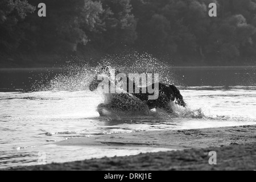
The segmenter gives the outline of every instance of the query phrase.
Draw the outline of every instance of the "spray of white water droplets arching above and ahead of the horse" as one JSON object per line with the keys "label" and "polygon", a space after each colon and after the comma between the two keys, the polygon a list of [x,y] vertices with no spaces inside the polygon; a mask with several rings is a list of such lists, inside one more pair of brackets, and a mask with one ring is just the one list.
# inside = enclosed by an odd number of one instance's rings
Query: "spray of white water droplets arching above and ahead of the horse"
{"label": "spray of white water droplets arching above and ahead of the horse", "polygon": [[[92,79],[101,72],[102,65],[108,65],[121,73],[158,73],[159,81],[172,84],[175,79],[170,65],[155,59],[148,54],[130,54],[126,56],[108,56],[98,61],[96,67],[92,67],[86,61],[73,58],[68,61],[61,73],[46,84],[36,81],[34,91],[82,91],[88,90]],[[43,79],[42,79],[43,80]]]}

